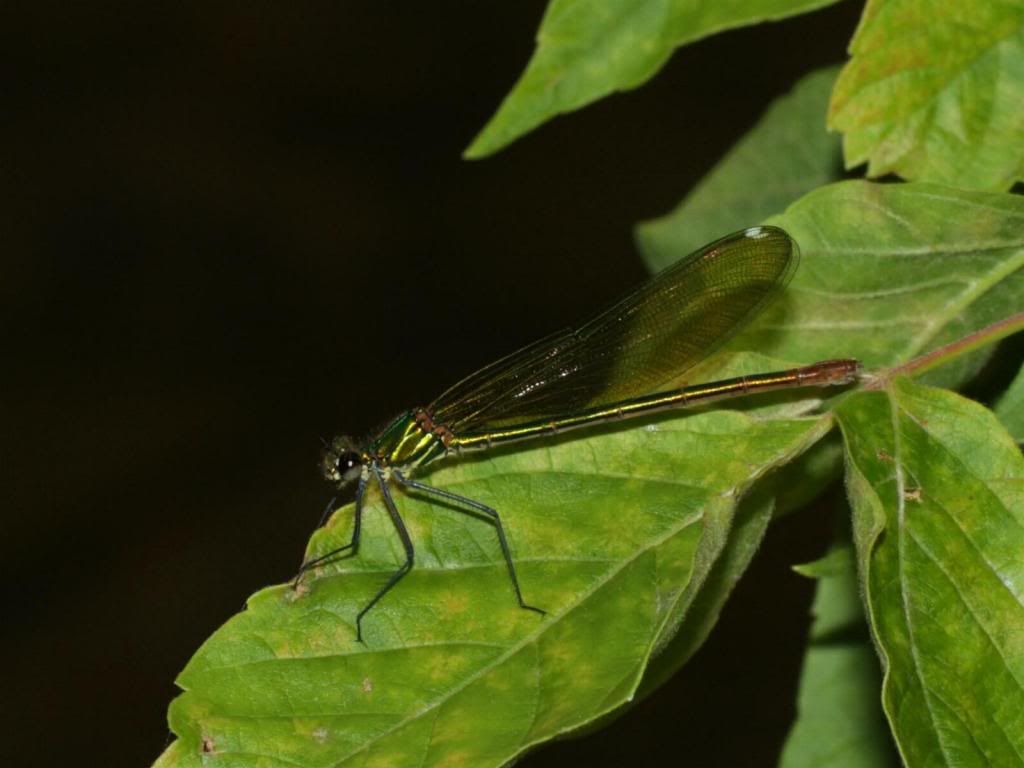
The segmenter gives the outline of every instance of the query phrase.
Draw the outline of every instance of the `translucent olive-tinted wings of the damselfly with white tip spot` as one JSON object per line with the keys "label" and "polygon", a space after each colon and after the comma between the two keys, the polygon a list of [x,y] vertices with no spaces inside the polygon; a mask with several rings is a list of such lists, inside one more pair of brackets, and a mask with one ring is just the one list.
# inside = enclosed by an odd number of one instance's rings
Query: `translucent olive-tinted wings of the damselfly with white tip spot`
{"label": "translucent olive-tinted wings of the damselfly with white tip spot", "polygon": [[574,331],[476,372],[431,403],[456,434],[556,418],[649,394],[708,357],[796,269],[797,244],[759,226],[677,262]]}

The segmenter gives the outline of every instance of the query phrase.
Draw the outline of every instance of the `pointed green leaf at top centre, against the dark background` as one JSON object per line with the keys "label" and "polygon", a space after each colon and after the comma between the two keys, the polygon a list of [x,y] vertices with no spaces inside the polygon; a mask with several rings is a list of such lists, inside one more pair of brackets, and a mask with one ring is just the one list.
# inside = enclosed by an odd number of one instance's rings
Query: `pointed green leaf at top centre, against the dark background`
{"label": "pointed green leaf at top centre, against the dark background", "polygon": [[526,71],[466,151],[497,152],[541,123],[635,88],[681,45],[836,0],[552,0]]}

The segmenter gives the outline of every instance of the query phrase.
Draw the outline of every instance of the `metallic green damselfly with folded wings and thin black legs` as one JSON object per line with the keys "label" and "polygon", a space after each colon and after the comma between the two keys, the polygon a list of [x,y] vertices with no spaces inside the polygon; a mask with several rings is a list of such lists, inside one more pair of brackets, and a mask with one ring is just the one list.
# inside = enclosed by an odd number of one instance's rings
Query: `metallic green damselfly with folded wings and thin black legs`
{"label": "metallic green damselfly with folded wings and thin black legs", "polygon": [[[706,359],[786,285],[799,260],[783,230],[758,226],[730,234],[670,266],[577,329],[542,339],[463,379],[425,408],[394,419],[365,445],[336,437],[325,452],[324,475],[339,487],[355,483],[351,541],[303,563],[296,577],[359,548],[368,486],[380,489],[404,549],[404,562],[355,618],[362,618],[413,567],[415,546],[390,483],[489,520],[519,605],[515,563],[498,511],[474,499],[420,482],[414,475],[444,456],[543,438],[569,429],[795,387],[848,384],[854,359],[660,389]],[[328,512],[333,509],[329,505]],[[325,514],[325,517],[327,515]]]}

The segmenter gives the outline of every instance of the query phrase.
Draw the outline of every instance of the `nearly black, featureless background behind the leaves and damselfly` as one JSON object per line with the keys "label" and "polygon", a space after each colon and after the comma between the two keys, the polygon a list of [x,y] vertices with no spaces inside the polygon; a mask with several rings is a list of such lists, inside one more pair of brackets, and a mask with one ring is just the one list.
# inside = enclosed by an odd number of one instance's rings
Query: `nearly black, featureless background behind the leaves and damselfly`
{"label": "nearly black, featureless background behind the leaves and damselfly", "polygon": [[[641,89],[462,161],[543,8],[8,5],[5,765],[148,765],[175,674],[294,573],[330,495],[319,437],[642,281],[633,224],[841,60],[859,11],[686,47]],[[787,566],[820,553],[826,517],[773,528],[670,686],[521,765],[773,764],[811,596]]]}

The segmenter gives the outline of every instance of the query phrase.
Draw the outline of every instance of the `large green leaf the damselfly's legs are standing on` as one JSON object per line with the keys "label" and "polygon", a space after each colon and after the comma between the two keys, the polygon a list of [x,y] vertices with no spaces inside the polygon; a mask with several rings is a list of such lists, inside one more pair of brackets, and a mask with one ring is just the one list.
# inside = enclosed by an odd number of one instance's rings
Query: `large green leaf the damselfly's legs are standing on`
{"label": "large green leaf the damselfly's legs are standing on", "polygon": [[[601,717],[713,579],[744,490],[829,426],[713,411],[444,463],[424,481],[503,513],[524,595],[548,615],[516,606],[487,522],[396,493],[416,566],[359,645],[355,614],[401,561],[375,494],[358,557],[298,596],[257,593],[189,662],[165,765],[205,750],[225,766],[499,766]],[[350,525],[346,507],[310,554]]]}

